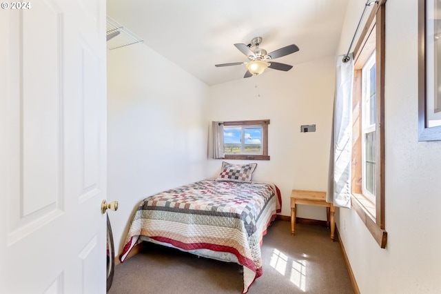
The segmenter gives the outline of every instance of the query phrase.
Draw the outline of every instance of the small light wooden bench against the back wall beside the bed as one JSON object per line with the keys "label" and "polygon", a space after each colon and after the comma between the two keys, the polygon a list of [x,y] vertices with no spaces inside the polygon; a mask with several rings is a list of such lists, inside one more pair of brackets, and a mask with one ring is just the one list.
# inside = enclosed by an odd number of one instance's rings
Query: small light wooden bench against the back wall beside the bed
{"label": "small light wooden bench against the back wall beside the bed", "polygon": [[326,192],[292,190],[291,192],[291,234],[294,235],[294,226],[296,225],[296,205],[325,206],[327,225],[331,226],[331,239],[334,241],[334,231],[336,228],[334,204],[326,202]]}

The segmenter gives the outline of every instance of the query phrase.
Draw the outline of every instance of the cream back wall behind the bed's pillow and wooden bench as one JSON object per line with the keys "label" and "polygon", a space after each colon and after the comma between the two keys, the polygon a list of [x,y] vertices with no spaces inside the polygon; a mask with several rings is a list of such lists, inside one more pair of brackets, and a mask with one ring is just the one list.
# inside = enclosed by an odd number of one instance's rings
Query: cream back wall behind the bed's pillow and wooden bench
{"label": "cream back wall behind the bed's pillow and wooden bench", "polygon": [[[209,89],[210,120],[270,119],[271,160],[248,162],[258,163],[253,180],[274,182],[280,188],[281,215],[290,215],[292,189],[327,190],[334,60],[335,57],[327,57],[302,63],[289,72],[267,70],[260,76]],[[245,68],[243,70],[245,72]],[[316,124],[316,132],[300,133],[303,124]],[[222,161],[209,159],[212,177],[216,177]],[[298,217],[325,220],[326,210],[299,206]]]}

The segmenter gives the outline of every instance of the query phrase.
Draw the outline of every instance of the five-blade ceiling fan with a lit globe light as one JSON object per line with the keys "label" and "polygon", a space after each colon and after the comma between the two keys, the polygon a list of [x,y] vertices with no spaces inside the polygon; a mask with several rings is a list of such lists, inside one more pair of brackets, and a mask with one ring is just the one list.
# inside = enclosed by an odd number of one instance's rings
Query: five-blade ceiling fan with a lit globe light
{"label": "five-blade ceiling fan with a lit globe light", "polygon": [[289,64],[279,63],[271,61],[285,55],[297,52],[299,49],[296,45],[291,44],[274,50],[267,54],[267,50],[260,48],[259,45],[262,43],[262,37],[255,37],[251,40],[251,43],[245,45],[243,43],[236,43],[234,46],[240,50],[246,57],[248,57],[248,62],[232,62],[232,63],[221,63],[216,64],[216,67],[222,66],[239,66],[245,64],[247,72],[245,72],[244,77],[251,77],[252,75],[260,75],[266,68],[273,68],[274,70],[283,70],[287,72],[292,68]]}

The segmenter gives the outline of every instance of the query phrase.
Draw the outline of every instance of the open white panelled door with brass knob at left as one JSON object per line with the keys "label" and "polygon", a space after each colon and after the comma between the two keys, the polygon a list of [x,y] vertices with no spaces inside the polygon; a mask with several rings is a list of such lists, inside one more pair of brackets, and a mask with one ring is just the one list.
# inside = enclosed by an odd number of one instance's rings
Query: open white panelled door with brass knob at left
{"label": "open white panelled door with brass knob at left", "polygon": [[0,292],[105,293],[105,1],[17,3],[0,9]]}

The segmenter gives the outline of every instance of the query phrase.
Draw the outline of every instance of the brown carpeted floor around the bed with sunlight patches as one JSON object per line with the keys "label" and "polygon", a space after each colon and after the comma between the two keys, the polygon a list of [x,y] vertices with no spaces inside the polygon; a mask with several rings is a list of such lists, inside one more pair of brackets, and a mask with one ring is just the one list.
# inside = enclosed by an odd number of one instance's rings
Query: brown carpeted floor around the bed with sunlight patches
{"label": "brown carpeted floor around the bed with sunlight patches", "polygon": [[[249,288],[257,293],[353,293],[338,241],[325,226],[286,221],[268,228],[262,246],[263,275]],[[115,268],[109,294],[241,293],[238,264],[198,258],[172,248],[148,244]]]}

